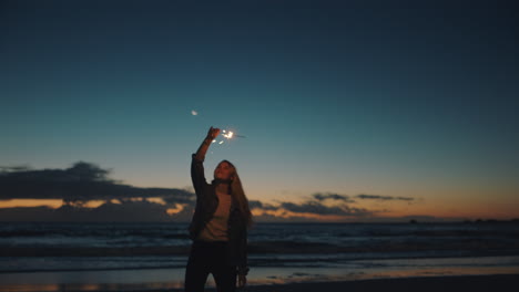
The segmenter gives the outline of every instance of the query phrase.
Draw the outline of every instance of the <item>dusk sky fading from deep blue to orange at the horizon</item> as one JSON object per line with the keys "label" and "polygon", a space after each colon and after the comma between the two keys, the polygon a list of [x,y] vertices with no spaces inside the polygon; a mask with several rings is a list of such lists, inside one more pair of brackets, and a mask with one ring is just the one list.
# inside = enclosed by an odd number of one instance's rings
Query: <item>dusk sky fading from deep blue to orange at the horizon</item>
{"label": "dusk sky fading from deep blue to orange at the horizon", "polygon": [[214,126],[245,138],[212,145],[206,177],[235,164],[257,216],[517,218],[518,20],[512,1],[2,1],[0,166],[189,190]]}

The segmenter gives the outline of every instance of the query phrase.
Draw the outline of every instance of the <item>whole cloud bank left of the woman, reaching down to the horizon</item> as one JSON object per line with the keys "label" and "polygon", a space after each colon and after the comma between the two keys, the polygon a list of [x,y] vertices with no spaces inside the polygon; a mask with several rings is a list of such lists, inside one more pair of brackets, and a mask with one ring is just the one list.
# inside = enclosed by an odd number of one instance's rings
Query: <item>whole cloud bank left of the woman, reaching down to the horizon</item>
{"label": "whole cloud bank left of the woman, reaching down to the horizon", "polygon": [[[67,169],[0,168],[0,200],[63,199],[49,207],[0,208],[0,221],[190,221],[195,195],[186,189],[139,188],[109,178],[111,170],[79,161]],[[147,200],[161,198],[165,204]],[[112,202],[116,199],[116,202]],[[91,200],[104,200],[88,208]],[[167,213],[169,209],[179,209]]]}

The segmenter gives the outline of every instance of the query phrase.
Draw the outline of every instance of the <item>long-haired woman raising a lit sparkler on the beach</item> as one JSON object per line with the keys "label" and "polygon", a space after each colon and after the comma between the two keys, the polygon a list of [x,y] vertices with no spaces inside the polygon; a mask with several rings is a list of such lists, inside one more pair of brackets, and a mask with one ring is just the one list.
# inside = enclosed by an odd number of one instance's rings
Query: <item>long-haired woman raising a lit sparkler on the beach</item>
{"label": "long-haired woman raising a lit sparkler on the beach", "polygon": [[213,274],[218,292],[232,292],[246,283],[247,228],[252,223],[248,201],[236,168],[227,160],[214,170],[212,184],[204,176],[207,148],[220,129],[211,127],[199,150],[192,155],[191,178],[196,192],[196,207],[190,225],[193,240],[185,269],[185,291],[204,291]]}

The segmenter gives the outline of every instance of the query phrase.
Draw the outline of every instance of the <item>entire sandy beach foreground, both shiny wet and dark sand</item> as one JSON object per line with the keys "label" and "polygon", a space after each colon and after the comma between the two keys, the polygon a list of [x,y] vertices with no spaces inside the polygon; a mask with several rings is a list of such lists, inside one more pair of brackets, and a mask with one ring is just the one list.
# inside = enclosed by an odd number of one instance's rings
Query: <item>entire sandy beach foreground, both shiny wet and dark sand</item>
{"label": "entire sandy beach foreground, both shiny wet and dark sand", "polygon": [[[0,273],[0,292],[183,291],[183,275],[181,268]],[[519,283],[519,257],[353,261],[349,268],[253,267],[242,291],[489,291],[485,289],[511,283]],[[206,291],[215,291],[211,275]]]}

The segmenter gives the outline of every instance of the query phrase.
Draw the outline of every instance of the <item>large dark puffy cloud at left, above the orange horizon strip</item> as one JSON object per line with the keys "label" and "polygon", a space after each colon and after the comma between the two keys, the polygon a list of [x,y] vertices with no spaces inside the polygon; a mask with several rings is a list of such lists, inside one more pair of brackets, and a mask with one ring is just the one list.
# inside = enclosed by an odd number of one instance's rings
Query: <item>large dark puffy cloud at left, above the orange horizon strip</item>
{"label": "large dark puffy cloud at left, above the orange horizon strip", "polygon": [[[3,167],[0,199],[63,199],[65,202],[161,197],[169,204],[191,202],[192,192],[175,188],[139,188],[110,179],[111,170],[78,161],[67,169]],[[7,169],[7,170],[6,170]]]}

